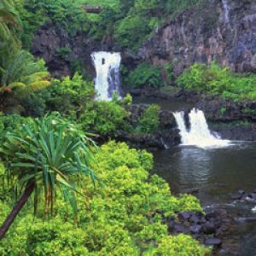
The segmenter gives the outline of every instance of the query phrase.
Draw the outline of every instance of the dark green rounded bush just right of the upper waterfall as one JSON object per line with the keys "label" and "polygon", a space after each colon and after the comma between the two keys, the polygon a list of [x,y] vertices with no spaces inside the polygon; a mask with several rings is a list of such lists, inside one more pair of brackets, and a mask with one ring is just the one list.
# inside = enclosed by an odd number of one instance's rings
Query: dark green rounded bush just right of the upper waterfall
{"label": "dark green rounded bush just right of the upper waterfall", "polygon": [[160,67],[154,67],[148,63],[142,63],[128,75],[125,84],[133,88],[153,87],[160,88],[163,86]]}

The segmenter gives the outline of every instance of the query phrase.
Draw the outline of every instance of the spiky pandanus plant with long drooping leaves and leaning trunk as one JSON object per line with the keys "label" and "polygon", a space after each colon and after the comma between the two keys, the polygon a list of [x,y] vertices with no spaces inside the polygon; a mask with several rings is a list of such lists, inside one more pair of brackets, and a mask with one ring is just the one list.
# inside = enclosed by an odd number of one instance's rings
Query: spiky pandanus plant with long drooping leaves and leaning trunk
{"label": "spiky pandanus plant with long drooping leaves and leaning trunk", "polygon": [[92,146],[93,141],[73,125],[52,116],[32,120],[19,131],[6,134],[0,154],[10,163],[7,177],[16,183],[20,199],[0,228],[0,240],[32,194],[35,214],[39,201],[44,203],[44,216],[53,214],[55,196],[60,191],[77,212],[74,181],[88,175],[96,182],[89,167]]}

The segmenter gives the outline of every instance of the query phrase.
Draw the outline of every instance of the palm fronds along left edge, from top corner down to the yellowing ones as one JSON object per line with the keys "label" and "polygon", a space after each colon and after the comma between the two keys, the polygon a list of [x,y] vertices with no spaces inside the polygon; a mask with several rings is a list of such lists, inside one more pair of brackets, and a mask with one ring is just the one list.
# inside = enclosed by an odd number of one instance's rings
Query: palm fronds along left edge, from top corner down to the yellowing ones
{"label": "palm fronds along left edge, from top corner down to the yellowing ones", "polygon": [[[0,111],[15,112],[20,98],[49,86],[44,61],[35,60],[20,44],[20,2],[0,4]],[[10,110],[14,109],[15,110]],[[18,111],[19,112],[19,111]]]}

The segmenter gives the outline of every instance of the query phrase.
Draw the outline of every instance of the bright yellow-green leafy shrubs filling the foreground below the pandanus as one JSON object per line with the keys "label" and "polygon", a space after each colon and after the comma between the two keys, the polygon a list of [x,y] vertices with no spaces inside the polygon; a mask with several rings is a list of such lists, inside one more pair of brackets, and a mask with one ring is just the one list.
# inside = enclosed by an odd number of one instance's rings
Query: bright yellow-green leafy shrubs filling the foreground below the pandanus
{"label": "bright yellow-green leafy shrubs filling the foreground below the pandanus", "polygon": [[[102,185],[94,187],[89,178],[80,179],[84,185],[77,195],[78,225],[61,197],[55,201],[55,218],[46,223],[40,218],[42,208],[33,220],[27,207],[1,241],[1,255],[207,255],[209,250],[189,236],[167,235],[156,212],[172,216],[201,207],[191,195],[172,196],[163,179],[149,176],[152,165],[151,154],[125,143],[110,142],[96,149],[91,168]],[[9,203],[0,204],[3,220]]]}

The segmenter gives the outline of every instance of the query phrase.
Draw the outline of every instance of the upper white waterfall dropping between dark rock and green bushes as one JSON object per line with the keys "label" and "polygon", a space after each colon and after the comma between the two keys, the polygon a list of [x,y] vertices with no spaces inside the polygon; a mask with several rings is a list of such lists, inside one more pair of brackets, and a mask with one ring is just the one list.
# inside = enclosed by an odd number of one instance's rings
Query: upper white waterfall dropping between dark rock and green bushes
{"label": "upper white waterfall dropping between dark rock and green bushes", "polygon": [[115,90],[119,95],[121,55],[120,53],[99,51],[93,52],[91,58],[96,68],[97,100],[109,101]]}

